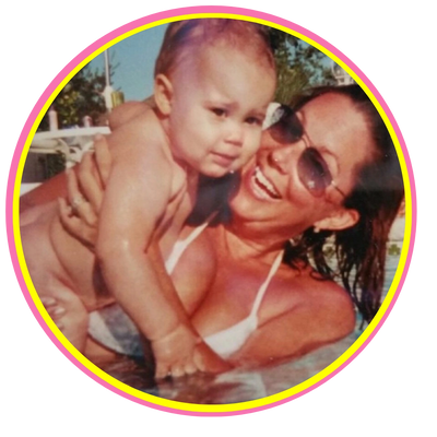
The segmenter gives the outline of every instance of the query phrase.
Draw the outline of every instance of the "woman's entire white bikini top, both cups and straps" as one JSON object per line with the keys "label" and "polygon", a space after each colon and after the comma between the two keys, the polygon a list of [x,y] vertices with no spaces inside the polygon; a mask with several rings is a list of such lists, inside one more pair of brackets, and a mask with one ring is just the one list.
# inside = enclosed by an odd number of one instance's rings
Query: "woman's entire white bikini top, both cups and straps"
{"label": "woman's entire white bikini top, both cups and straps", "polygon": [[[204,231],[211,218],[198,226],[185,239],[175,244],[165,265],[168,274],[173,272],[181,255],[188,246]],[[265,281],[261,284],[253,302],[250,315],[238,323],[209,335],[203,341],[222,358],[228,358],[237,352],[258,328],[258,310],[262,298],[281,265],[284,252],[281,251],[274,260]],[[121,307],[113,304],[90,314],[90,335],[106,347],[125,355],[142,356],[141,336]]]}

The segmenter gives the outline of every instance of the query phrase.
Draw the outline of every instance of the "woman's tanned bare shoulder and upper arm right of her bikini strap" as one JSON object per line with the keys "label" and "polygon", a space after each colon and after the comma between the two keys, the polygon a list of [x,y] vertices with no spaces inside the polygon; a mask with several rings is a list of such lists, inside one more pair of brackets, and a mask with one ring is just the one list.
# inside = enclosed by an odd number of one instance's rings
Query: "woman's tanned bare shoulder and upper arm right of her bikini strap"
{"label": "woman's tanned bare shoulder and upper arm right of her bikini strap", "polygon": [[233,359],[263,364],[298,357],[349,335],[355,327],[351,297],[310,269],[282,265],[269,286],[259,327]]}

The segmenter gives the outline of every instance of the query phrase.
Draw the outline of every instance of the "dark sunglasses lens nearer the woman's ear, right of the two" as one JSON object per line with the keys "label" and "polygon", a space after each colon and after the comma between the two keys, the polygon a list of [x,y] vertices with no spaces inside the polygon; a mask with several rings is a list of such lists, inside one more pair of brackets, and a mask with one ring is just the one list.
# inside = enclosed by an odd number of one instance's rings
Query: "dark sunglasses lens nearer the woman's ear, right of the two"
{"label": "dark sunglasses lens nearer the woman's ear, right of the two", "polygon": [[307,147],[302,153],[298,172],[300,180],[312,196],[323,196],[324,190],[331,185],[332,178],[328,165],[314,147]]}

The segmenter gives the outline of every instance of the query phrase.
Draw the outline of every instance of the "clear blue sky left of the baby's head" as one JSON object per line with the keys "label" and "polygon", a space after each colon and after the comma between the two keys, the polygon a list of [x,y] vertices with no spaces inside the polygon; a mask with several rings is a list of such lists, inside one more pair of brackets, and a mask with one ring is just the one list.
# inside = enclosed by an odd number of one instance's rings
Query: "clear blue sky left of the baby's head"
{"label": "clear blue sky left of the baby's head", "polygon": [[[113,87],[125,93],[126,101],[140,101],[152,95],[153,69],[167,24],[132,35],[109,49],[114,63],[119,63],[113,76]],[[104,55],[90,62],[104,71]]]}

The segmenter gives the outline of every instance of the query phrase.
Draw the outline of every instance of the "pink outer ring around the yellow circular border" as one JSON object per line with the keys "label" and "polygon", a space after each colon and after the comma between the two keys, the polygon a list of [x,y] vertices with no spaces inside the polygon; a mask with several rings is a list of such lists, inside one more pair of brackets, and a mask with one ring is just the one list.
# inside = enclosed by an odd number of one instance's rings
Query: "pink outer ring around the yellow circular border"
{"label": "pink outer ring around the yellow circular border", "polygon": [[[239,14],[248,17],[256,17],[256,19],[271,21],[279,25],[302,33],[303,35],[314,39],[316,43],[320,44],[322,47],[327,48],[332,54],[338,56],[339,59],[341,59],[345,64],[347,64],[347,67],[351,68],[357,74],[357,76],[368,86],[368,88],[374,93],[374,96],[378,99],[379,104],[385,109],[387,117],[390,119],[403,151],[404,160],[409,172],[411,196],[412,196],[412,211],[413,211],[412,234],[411,234],[410,248],[404,271],[402,273],[402,277],[399,283],[398,290],[387,311],[385,312],[382,319],[375,328],[373,333],[369,335],[365,344],[363,344],[363,346],[358,349],[356,353],[353,354],[350,357],[350,359],[347,359],[335,371],[330,374],[321,381],[315,383],[314,386],[309,387],[306,390],[303,390],[302,392],[295,395],[292,395],[287,399],[264,406],[252,408],[236,412],[225,412],[225,413],[190,412],[190,411],[176,410],[149,403],[144,400],[135,398],[126,392],[122,392],[118,388],[110,386],[108,382],[102,380],[96,375],[94,375],[76,358],[74,358],[47,327],[46,322],[44,321],[43,317],[40,316],[32,297],[27,292],[27,286],[24,282],[21,268],[17,261],[17,255],[13,238],[13,225],[12,225],[13,189],[15,184],[16,169],[19,166],[19,161],[22,154],[23,146],[26,142],[29,130],[32,129],[40,109],[44,107],[47,99],[51,96],[52,92],[62,82],[62,80],[67,76],[67,74],[69,74],[80,62],[82,62],[85,58],[87,58],[103,45],[109,43],[110,40],[115,39],[116,37],[127,32],[130,32],[139,26],[143,26],[160,20],[166,20],[194,13],[229,13],[229,14]],[[56,353],[70,367],[74,369],[74,371],[80,374],[85,380],[90,381],[92,385],[99,388],[102,391],[105,391],[106,393],[142,410],[164,414],[167,416],[185,417],[185,418],[202,418],[202,420],[240,418],[240,417],[255,416],[276,411],[285,406],[292,405],[294,403],[297,403],[308,398],[311,394],[315,394],[321,389],[330,386],[340,376],[344,375],[349,369],[351,369],[357,363],[357,361],[369,350],[369,347],[374,345],[376,340],[386,329],[387,324],[393,317],[402,299],[402,296],[405,292],[405,287],[411,276],[411,271],[414,265],[417,240],[418,240],[418,213],[416,214],[416,212],[418,212],[417,174],[408,137],[388,97],[380,88],[380,86],[375,82],[374,78],[369,74],[369,72],[363,66],[361,66],[361,63],[357,62],[357,60],[354,57],[352,57],[345,49],[340,47],[331,38],[321,34],[319,31],[295,19],[292,19],[290,16],[283,15],[277,12],[273,12],[261,8],[255,8],[250,5],[232,4],[232,3],[214,3],[214,4],[190,3],[190,4],[179,4],[174,7],[165,7],[162,9],[156,9],[133,16],[131,19],[125,20],[109,27],[108,29],[102,32],[101,34],[92,38],[90,42],[81,46],[74,54],[72,54],[69,58],[67,58],[66,61],[62,62],[62,64],[48,78],[48,80],[43,85],[38,94],[35,96],[25,116],[23,117],[23,120],[16,132],[15,140],[12,144],[12,150],[9,156],[9,162],[4,177],[4,185],[3,185],[3,238],[7,248],[9,267],[15,283],[15,287],[19,292],[19,296],[26,311],[28,312],[31,319],[34,321],[35,327],[40,332],[40,334],[46,339],[46,341],[56,351]]]}

